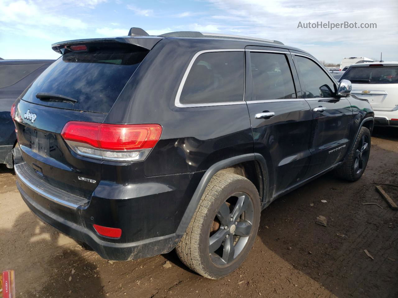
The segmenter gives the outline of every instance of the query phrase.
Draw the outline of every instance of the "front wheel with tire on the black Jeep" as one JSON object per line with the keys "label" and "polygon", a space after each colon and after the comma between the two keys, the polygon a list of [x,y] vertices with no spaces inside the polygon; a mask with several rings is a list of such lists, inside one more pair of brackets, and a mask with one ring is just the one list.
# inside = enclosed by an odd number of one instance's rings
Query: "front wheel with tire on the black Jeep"
{"label": "front wheel with tire on the black Jeep", "polygon": [[347,181],[357,181],[365,172],[370,151],[371,133],[366,127],[361,127],[347,159],[335,170],[336,176]]}

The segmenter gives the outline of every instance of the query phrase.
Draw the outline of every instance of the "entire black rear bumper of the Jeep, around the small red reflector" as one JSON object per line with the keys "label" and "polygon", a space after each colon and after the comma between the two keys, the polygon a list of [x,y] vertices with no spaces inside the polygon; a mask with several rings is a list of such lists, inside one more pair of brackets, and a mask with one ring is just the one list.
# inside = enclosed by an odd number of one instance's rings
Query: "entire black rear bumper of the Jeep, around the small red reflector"
{"label": "entire black rear bumper of the Jeep, around the small red reflector", "polygon": [[[203,176],[198,172],[147,177],[135,184],[101,181],[83,198],[49,184],[21,160],[18,150],[14,159],[18,190],[33,213],[104,259],[117,261],[173,250],[182,236],[179,223]],[[122,235],[107,238],[93,224],[121,228]]]}

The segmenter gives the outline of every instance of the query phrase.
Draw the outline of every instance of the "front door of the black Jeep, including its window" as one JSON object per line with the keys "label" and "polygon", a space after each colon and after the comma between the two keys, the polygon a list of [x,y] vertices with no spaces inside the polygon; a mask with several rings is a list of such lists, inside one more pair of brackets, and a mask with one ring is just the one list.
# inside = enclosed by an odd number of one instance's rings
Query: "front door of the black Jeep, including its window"
{"label": "front door of the black Jeep, including its window", "polygon": [[349,149],[352,110],[345,97],[337,97],[337,83],[309,56],[293,54],[303,96],[312,112],[311,163],[306,177],[341,161]]}

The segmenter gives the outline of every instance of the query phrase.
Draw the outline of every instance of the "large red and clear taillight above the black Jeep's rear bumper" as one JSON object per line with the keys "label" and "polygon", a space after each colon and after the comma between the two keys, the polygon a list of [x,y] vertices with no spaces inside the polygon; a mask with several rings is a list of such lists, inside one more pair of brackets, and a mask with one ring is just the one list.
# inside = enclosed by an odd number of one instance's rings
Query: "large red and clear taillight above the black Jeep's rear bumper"
{"label": "large red and clear taillight above the black Jeep's rear bumper", "polygon": [[101,124],[71,121],[61,135],[80,155],[109,161],[145,159],[162,134],[159,124]]}

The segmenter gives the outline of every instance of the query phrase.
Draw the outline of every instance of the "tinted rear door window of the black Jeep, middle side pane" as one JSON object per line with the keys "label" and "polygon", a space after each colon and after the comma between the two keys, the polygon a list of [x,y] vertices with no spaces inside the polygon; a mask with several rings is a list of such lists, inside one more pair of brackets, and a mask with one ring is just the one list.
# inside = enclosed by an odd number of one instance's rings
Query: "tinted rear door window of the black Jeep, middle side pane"
{"label": "tinted rear door window of the black Jeep, middle side pane", "polygon": [[285,54],[250,52],[252,100],[296,98],[293,77]]}

